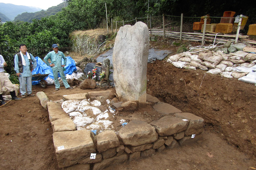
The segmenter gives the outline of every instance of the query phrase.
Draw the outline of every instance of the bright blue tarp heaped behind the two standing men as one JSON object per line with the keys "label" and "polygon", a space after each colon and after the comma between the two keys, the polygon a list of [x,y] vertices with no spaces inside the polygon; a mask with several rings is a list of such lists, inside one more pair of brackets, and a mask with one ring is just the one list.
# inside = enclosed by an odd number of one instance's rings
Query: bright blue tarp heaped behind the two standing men
{"label": "bright blue tarp heaped behind the two standing men", "polygon": [[[50,66],[47,66],[47,64],[45,64],[40,57],[35,57],[35,58],[36,58],[37,66],[32,71],[32,75],[34,75],[34,74],[49,74],[48,77],[53,79],[52,68]],[[63,63],[64,63],[64,59],[62,58],[62,64]],[[67,65],[65,66],[65,68],[66,68],[66,71],[64,71],[65,75],[66,74],[70,75],[73,73],[73,71],[76,70],[75,60],[73,60],[70,56],[67,57]],[[48,78],[48,77],[46,77],[46,78]],[[59,77],[60,77],[60,74],[59,74]],[[32,85],[37,85],[37,84],[39,84],[38,81],[32,81]]]}

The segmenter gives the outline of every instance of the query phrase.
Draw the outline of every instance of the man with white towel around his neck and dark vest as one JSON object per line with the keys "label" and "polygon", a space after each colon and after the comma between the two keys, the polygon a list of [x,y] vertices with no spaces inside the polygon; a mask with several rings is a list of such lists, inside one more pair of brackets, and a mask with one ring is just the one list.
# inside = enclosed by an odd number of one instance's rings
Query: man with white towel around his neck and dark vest
{"label": "man with white towel around his neck and dark vest", "polygon": [[14,70],[19,77],[21,98],[26,98],[26,95],[35,96],[32,94],[32,71],[36,68],[36,59],[28,53],[25,44],[20,44],[19,48],[20,53],[14,57]]}

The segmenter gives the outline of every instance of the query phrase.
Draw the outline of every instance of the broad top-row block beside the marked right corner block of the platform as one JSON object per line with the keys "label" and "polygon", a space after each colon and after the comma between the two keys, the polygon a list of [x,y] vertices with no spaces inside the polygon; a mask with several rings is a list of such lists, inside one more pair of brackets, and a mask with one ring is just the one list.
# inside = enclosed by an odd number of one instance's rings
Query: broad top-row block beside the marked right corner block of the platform
{"label": "broad top-row block beside the marked right corner block of the platform", "polygon": [[158,121],[152,121],[150,124],[156,128],[156,132],[160,137],[182,132],[188,127],[188,121],[183,121],[182,118],[173,116],[164,116]]}

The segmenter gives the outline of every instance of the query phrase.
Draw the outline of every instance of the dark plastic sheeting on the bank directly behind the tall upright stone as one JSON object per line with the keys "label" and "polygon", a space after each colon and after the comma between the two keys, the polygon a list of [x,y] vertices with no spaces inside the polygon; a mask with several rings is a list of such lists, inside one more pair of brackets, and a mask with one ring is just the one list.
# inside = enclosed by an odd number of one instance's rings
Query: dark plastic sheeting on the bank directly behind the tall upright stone
{"label": "dark plastic sheeting on the bank directly behind the tall upright stone", "polygon": [[[154,63],[156,60],[163,60],[168,54],[172,53],[170,50],[155,50],[151,48],[148,50],[148,63]],[[96,59],[97,63],[102,63],[105,58],[110,60],[110,64],[113,64],[113,48],[106,53],[99,55]]]}

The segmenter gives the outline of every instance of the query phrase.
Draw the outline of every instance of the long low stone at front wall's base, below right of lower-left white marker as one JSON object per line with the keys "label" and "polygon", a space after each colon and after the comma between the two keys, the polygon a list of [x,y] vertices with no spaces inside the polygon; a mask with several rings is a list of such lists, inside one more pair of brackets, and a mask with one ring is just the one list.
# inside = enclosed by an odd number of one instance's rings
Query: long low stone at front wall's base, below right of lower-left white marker
{"label": "long low stone at front wall's base, below right of lower-left white marker", "polygon": [[95,163],[92,170],[102,170],[110,165],[123,163],[127,159],[128,155],[126,153],[122,154],[121,156],[114,156],[109,159],[104,159],[102,162]]}

